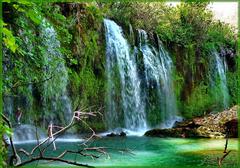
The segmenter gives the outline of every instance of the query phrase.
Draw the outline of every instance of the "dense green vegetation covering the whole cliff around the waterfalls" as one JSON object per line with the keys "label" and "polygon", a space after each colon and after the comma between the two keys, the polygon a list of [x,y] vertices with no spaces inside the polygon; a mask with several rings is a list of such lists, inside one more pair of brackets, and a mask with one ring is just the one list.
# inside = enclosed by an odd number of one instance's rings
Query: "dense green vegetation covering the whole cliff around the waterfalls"
{"label": "dense green vegetation covering the whole cliff around the waterfalls", "polygon": [[[157,2],[35,4],[22,0],[3,3],[3,96],[5,99],[14,97],[14,109],[18,106],[24,109],[26,122],[29,121],[27,116],[32,116],[41,125],[44,84],[50,81],[51,92],[47,97],[51,99],[60,94],[61,81],[57,79],[67,73],[72,110],[80,106],[104,107],[103,19],[107,17],[121,25],[127,35],[131,24],[134,30],[145,29],[160,37],[176,65],[175,92],[183,117],[192,118],[223,108],[217,100],[220,97],[214,96],[216,91],[209,85],[212,50],[217,50],[227,60],[230,106],[234,105],[238,83],[236,30],[213,20],[207,4],[181,3],[173,8]],[[43,20],[56,30],[63,59],[56,59],[53,54],[51,61],[46,60],[49,48],[41,37]],[[56,70],[59,64],[66,65],[66,72]],[[49,68],[47,73],[46,67]],[[101,118],[90,122],[95,129],[105,129]]]}

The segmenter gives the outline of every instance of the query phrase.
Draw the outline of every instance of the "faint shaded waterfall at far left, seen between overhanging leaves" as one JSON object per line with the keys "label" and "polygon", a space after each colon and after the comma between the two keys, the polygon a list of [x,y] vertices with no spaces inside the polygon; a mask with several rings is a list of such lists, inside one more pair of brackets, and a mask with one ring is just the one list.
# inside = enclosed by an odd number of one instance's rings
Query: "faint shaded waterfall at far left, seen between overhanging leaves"
{"label": "faint shaded waterfall at far left, seen between overhanging leaves", "polygon": [[[33,42],[29,40],[29,32],[32,33],[32,30],[18,30],[19,37],[23,40],[23,43],[21,45],[25,47],[26,57],[33,56]],[[22,88],[20,87],[20,89],[16,89],[13,87],[14,84],[12,82],[14,81],[13,79],[15,76],[9,75],[9,73],[11,74],[11,71],[14,71],[13,68],[15,66],[12,62],[12,59],[16,59],[16,55],[12,54],[7,48],[3,47],[3,76],[5,80],[4,89],[6,89],[3,95],[3,111],[4,114],[6,114],[6,116],[10,119],[10,121],[15,124],[14,121],[16,120],[16,109],[20,108],[21,111],[24,112],[24,122],[33,124],[34,121],[30,115],[33,107],[32,84],[29,81],[29,84],[22,85]],[[24,72],[25,69],[23,69],[22,71]],[[27,75],[24,76],[28,78]],[[16,91],[16,93],[13,93],[14,90]],[[23,120],[21,119],[21,121]]]}

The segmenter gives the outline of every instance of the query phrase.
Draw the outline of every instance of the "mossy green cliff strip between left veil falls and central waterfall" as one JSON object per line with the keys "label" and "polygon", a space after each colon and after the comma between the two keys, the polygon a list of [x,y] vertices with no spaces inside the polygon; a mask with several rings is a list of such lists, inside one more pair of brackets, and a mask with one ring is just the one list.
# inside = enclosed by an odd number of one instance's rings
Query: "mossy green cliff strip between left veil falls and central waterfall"
{"label": "mossy green cliff strip between left veil falls and central waterfall", "polygon": [[[82,8],[82,11],[78,11]],[[105,41],[102,32],[103,11],[95,5],[79,4],[73,34],[72,55],[66,59],[69,66],[70,92],[74,108],[104,105],[105,95]]]}

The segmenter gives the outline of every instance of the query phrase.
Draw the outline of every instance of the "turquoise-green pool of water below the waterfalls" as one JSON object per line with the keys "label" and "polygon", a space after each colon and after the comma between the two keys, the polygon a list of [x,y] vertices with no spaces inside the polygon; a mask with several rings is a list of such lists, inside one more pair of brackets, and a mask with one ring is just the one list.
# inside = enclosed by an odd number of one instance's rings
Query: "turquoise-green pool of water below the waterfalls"
{"label": "turquoise-green pool of water below the waterfalls", "polygon": [[[47,154],[57,156],[64,149],[80,149],[81,142],[57,142],[57,151]],[[33,144],[19,144],[17,147],[30,150]],[[90,143],[90,147],[109,147],[109,156],[99,159],[65,156],[96,167],[217,167],[217,157],[223,156],[225,140],[221,139],[178,139],[150,137],[106,137]],[[131,152],[121,152],[129,149]],[[237,166],[237,139],[230,139],[228,149],[232,152],[224,159],[223,167]],[[55,162],[34,163],[30,167],[70,167]]]}

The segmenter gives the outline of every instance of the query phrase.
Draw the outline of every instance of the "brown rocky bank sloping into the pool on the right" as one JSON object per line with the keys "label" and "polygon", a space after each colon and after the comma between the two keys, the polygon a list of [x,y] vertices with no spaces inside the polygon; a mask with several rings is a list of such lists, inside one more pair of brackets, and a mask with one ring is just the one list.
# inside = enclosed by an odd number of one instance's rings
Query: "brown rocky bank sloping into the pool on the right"
{"label": "brown rocky bank sloping into the pool on the right", "polygon": [[197,117],[192,120],[175,123],[173,128],[153,129],[145,133],[145,136],[155,137],[204,137],[224,138],[228,132],[231,138],[238,137],[237,106],[224,110],[217,114]]}

